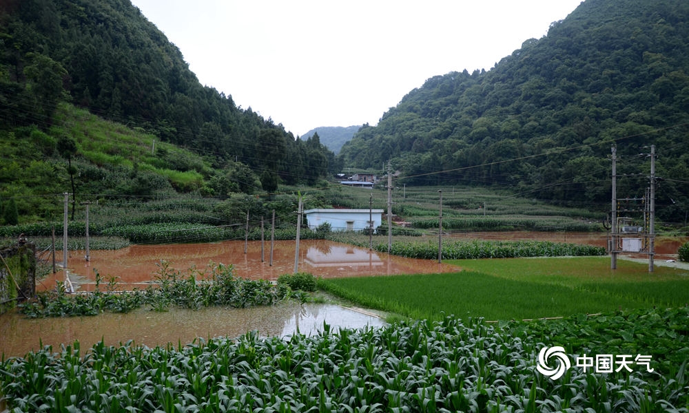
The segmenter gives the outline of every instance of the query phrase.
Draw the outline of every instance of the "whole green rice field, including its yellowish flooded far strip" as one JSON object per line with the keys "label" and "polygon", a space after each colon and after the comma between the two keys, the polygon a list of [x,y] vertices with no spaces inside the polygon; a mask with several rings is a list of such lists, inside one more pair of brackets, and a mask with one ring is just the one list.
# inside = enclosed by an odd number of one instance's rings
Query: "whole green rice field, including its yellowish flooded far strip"
{"label": "whole green rice field, including its yellowish flooded far strip", "polygon": [[415,319],[563,317],[689,301],[689,277],[672,268],[605,257],[456,260],[451,274],[322,279],[320,286],[364,306]]}

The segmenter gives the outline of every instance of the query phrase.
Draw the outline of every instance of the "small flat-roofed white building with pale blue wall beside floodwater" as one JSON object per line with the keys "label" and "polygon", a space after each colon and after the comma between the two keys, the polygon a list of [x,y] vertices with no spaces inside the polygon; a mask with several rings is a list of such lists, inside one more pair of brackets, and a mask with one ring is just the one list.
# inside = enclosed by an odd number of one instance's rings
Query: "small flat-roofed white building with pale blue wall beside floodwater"
{"label": "small flat-roofed white building with pale blue wall beside floodwater", "polygon": [[[382,209],[309,209],[304,211],[309,229],[330,224],[331,231],[364,231],[371,227],[375,230],[382,222]],[[370,218],[369,218],[370,216]]]}

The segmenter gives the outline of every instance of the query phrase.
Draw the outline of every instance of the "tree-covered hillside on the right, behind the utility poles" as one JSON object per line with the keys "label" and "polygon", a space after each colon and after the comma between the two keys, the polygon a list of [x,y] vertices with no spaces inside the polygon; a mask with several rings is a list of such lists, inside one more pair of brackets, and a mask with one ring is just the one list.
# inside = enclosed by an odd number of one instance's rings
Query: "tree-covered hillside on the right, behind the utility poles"
{"label": "tree-covered hillside on the right, behind the utility poles", "polygon": [[[457,41],[474,41],[457,39]],[[689,209],[689,3],[586,0],[489,72],[429,78],[340,152],[348,167],[392,160],[407,184],[513,187],[610,209],[648,187],[657,146],[659,217]]]}

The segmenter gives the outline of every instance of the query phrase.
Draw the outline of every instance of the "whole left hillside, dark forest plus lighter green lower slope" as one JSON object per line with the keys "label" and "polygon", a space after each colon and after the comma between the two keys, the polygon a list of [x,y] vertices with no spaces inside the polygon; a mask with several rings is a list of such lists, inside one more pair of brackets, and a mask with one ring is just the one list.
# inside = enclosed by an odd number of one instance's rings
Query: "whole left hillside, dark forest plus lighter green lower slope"
{"label": "whole left hillside, dark forest plus lighter green lower slope", "polygon": [[[127,147],[110,145],[107,153],[98,145],[87,147],[93,137],[80,125],[79,108],[112,121],[114,134],[130,129],[139,139],[188,149],[203,162],[168,150],[153,152],[157,161],[150,163]],[[20,214],[38,216],[45,211],[29,211],[20,199],[73,192],[70,179],[62,178],[67,173],[56,176],[61,168],[82,181],[138,176],[136,188],[144,193],[227,195],[315,183],[334,160],[320,143],[296,140],[270,118],[201,85],[178,48],[129,0],[0,2],[0,147],[0,200],[15,198]],[[180,185],[169,179],[171,173],[140,169],[139,162],[198,173],[198,179]],[[81,184],[130,195],[130,184],[110,181],[106,188],[103,182]]]}

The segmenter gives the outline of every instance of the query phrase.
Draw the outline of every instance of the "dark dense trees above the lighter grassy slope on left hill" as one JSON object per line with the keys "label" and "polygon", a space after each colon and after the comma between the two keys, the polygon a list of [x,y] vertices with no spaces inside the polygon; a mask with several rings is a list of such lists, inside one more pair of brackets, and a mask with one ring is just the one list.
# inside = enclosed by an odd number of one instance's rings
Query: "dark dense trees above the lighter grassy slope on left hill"
{"label": "dark dense trees above the lighter grassy slope on left hill", "polygon": [[19,130],[35,125],[57,139],[51,127],[61,101],[196,151],[218,169],[203,179],[213,176],[206,188],[220,195],[313,182],[334,160],[326,147],[304,145],[201,85],[178,48],[129,0],[0,2],[1,138],[21,139]]}

